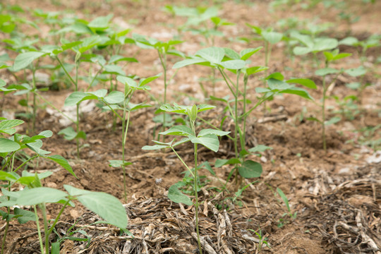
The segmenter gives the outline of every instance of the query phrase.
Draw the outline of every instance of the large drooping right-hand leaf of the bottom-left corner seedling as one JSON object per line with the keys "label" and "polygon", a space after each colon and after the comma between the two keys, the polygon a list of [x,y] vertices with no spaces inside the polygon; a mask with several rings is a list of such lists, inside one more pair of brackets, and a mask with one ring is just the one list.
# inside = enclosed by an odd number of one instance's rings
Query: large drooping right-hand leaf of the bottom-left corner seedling
{"label": "large drooping right-hand leaf of the bottom-left corner seedling", "polygon": [[63,188],[70,195],[76,196],[87,209],[95,212],[110,224],[118,226],[120,229],[126,229],[128,224],[126,210],[113,195],[80,190],[68,185],[64,185]]}

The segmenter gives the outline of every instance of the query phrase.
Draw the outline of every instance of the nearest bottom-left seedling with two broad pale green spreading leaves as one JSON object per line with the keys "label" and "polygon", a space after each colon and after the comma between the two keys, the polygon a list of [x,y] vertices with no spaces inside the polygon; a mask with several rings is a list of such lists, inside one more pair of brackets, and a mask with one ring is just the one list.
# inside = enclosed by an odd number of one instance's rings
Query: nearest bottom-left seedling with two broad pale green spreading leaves
{"label": "nearest bottom-left seedling with two broad pale green spreading leaves", "polygon": [[[4,196],[8,198],[8,201],[1,202],[0,207],[11,207],[14,205],[31,205],[33,207],[41,253],[59,254],[59,242],[52,245],[52,252],[49,251],[49,236],[52,234],[56,223],[59,222],[61,214],[65,208],[68,205],[74,206],[73,200],[78,200],[82,205],[87,207],[87,209],[95,212],[106,220],[102,223],[117,226],[122,231],[129,234],[126,229],[128,223],[126,210],[121,202],[114,196],[102,192],[80,190],[73,186],[64,185],[63,187],[68,192],[66,193],[54,188],[42,187],[37,174],[35,177],[32,176],[32,178],[35,178],[35,180],[23,191],[6,191],[5,189],[2,189]],[[47,203],[63,204],[52,225],[49,225],[47,219]],[[42,238],[37,207],[40,208],[42,212],[42,219],[44,221],[44,238]],[[30,216],[29,213],[28,216]]]}

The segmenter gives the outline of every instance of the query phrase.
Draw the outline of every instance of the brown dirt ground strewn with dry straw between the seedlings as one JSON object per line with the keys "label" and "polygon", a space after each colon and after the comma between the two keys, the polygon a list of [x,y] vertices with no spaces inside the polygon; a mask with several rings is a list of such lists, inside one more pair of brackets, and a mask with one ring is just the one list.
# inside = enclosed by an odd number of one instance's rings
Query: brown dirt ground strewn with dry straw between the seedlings
{"label": "brown dirt ground strewn with dry straw between the seedlings", "polygon": [[[6,1],[7,2],[7,1]],[[72,10],[85,20],[95,16],[114,14],[113,22],[123,28],[131,28],[141,35],[169,40],[176,35],[175,25],[185,21],[162,11],[166,4],[191,6],[203,1],[53,1],[14,0],[8,4],[19,4],[23,8],[42,8],[43,11]],[[232,47],[239,51],[245,47],[258,47],[262,42],[244,44],[234,37],[253,35],[245,23],[267,27],[275,25],[280,18],[310,18],[318,16],[317,22],[332,22],[334,26],[325,35],[342,39],[346,35],[358,37],[359,40],[371,34],[381,34],[381,1],[375,4],[363,4],[362,1],[351,1],[350,10],[360,20],[348,24],[340,20],[334,9],[324,8],[318,4],[313,9],[303,10],[300,5],[277,8],[269,12],[270,1],[219,1],[214,5],[220,7],[219,16],[236,23],[222,28],[224,37],[217,37],[218,47]],[[205,4],[205,3],[204,3]],[[209,3],[211,4],[211,3]],[[30,14],[25,13],[25,16]],[[44,28],[44,25],[42,25]],[[279,30],[279,29],[278,29]],[[279,30],[280,31],[280,30]],[[46,31],[29,31],[44,37]],[[4,35],[5,36],[5,35]],[[178,49],[186,54],[194,54],[201,49],[203,39],[199,35],[187,32]],[[315,121],[307,121],[310,116],[320,116],[322,97],[322,78],[314,74],[315,68],[311,59],[296,56],[291,59],[284,54],[285,44],[279,43],[272,48],[270,69],[268,73],[279,71],[286,78],[311,78],[317,84],[317,90],[309,90],[315,102],[299,99],[294,95],[275,97],[267,103],[267,109],[258,109],[250,115],[247,147],[267,145],[272,150],[262,153],[262,157],[253,157],[261,162],[263,173],[259,181],[250,185],[238,198],[234,196],[234,185],[228,184],[230,193],[217,193],[220,186],[217,178],[206,170],[200,175],[206,176],[207,184],[200,191],[200,235],[204,237],[205,253],[381,253],[381,162],[380,162],[380,128],[381,124],[381,68],[380,47],[370,49],[366,63],[373,71],[365,75],[365,80],[373,85],[363,93],[359,112],[353,119],[342,119],[327,128],[328,152],[322,150],[321,126]],[[341,52],[353,54],[350,60],[344,61],[337,68],[356,67],[358,52],[352,47],[341,47]],[[2,46],[1,51],[5,51]],[[8,52],[16,56],[13,52]],[[156,75],[162,72],[155,50],[142,50],[135,46],[123,49],[123,55],[135,56],[139,63],[131,63],[127,73],[140,77]],[[378,63],[377,63],[378,57]],[[264,65],[262,53],[255,54],[253,65]],[[169,75],[174,73],[171,65],[179,58],[169,57]],[[87,71],[84,65],[83,72]],[[205,102],[205,95],[200,89],[199,78],[210,75],[209,69],[202,66],[181,68],[169,85],[169,101],[179,104]],[[255,101],[255,87],[261,86],[260,77],[250,78],[248,99]],[[0,77],[7,83],[14,82],[12,75],[0,71]],[[334,82],[330,95],[343,98],[353,95],[346,83],[356,81],[349,75],[340,75]],[[85,87],[85,84],[82,84]],[[164,90],[163,80],[159,78],[152,83],[152,95],[159,97]],[[155,87],[155,89],[154,89]],[[209,94],[210,84],[205,83]],[[43,92],[44,98],[53,102],[60,109],[64,99],[71,90]],[[217,83],[216,95],[224,97],[229,90],[224,83]],[[12,115],[22,110],[13,97],[1,97],[2,114]],[[145,93],[140,92],[135,99],[138,102],[149,101]],[[207,102],[210,103],[210,102]],[[334,99],[328,99],[329,116],[335,116],[339,109]],[[217,119],[224,114],[223,107],[217,107],[202,114],[205,119]],[[221,107],[219,107],[221,106]],[[197,253],[195,238],[194,207],[179,205],[167,198],[169,186],[181,181],[181,172],[185,171],[181,162],[170,151],[145,152],[144,145],[152,145],[155,123],[155,109],[147,108],[131,114],[131,127],[128,130],[126,160],[133,162],[127,167],[127,202],[123,200],[123,174],[121,169],[109,167],[109,159],[121,159],[121,122],[116,122],[113,130],[112,116],[92,106],[84,112],[80,126],[87,133],[87,140],[82,141],[80,159],[75,156],[75,141],[64,140],[56,135],[62,128],[59,116],[47,107],[38,109],[37,131],[51,130],[52,138],[44,140],[44,149],[52,154],[62,155],[70,161],[78,179],[75,179],[61,167],[41,160],[38,166],[28,167],[30,171],[54,171],[44,179],[44,186],[63,190],[63,184],[90,191],[103,191],[119,198],[128,212],[128,230],[134,235],[120,235],[111,226],[95,224],[84,229],[91,236],[87,242],[67,240],[61,244],[60,253]],[[274,116],[274,118],[270,118]],[[224,131],[231,131],[233,125],[227,123]],[[375,128],[375,131],[369,131]],[[368,132],[366,132],[368,130]],[[26,125],[18,130],[25,133]],[[377,143],[377,140],[379,141]],[[374,141],[372,143],[372,141]],[[373,145],[372,145],[373,144]],[[222,139],[219,152],[214,153],[201,149],[198,160],[214,163],[215,159],[230,158],[234,151],[229,140]],[[378,153],[377,153],[378,150]],[[189,164],[193,161],[191,146],[179,150]],[[216,169],[219,179],[225,181],[229,167]],[[249,179],[255,181],[257,179]],[[246,183],[250,183],[246,180]],[[275,190],[281,188],[289,199],[291,212],[296,212],[292,219],[287,213],[284,202]],[[222,209],[217,210],[217,207]],[[48,205],[48,214],[52,219],[59,211],[59,205]],[[225,209],[224,209],[225,208]],[[65,236],[69,227],[76,222],[77,228],[99,220],[80,204],[67,209],[61,222],[56,226],[57,234]],[[279,225],[283,223],[283,225]],[[268,246],[258,244],[259,238],[253,231],[261,231]],[[1,227],[1,237],[4,226]],[[79,235],[78,235],[79,236]],[[270,246],[270,247],[269,247]],[[12,222],[6,241],[5,253],[40,253],[35,224],[28,222],[20,225]],[[213,252],[214,251],[214,252]]]}

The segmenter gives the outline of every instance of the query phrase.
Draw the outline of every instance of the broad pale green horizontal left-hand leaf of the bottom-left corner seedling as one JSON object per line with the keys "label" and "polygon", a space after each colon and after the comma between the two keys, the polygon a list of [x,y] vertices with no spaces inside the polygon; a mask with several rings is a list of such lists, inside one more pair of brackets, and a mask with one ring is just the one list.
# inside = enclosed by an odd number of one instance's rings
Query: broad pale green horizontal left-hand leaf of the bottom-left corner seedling
{"label": "broad pale green horizontal left-hand leaf of the bottom-left corner seedling", "polygon": [[18,205],[37,205],[43,202],[59,202],[66,200],[67,193],[48,187],[37,187],[20,191],[17,198]]}

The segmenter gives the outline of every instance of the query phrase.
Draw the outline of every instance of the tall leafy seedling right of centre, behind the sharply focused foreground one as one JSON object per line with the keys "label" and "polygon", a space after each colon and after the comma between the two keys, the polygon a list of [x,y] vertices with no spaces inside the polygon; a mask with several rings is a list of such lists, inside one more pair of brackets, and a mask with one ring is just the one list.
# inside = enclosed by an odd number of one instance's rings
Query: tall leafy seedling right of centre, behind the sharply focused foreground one
{"label": "tall leafy seedling right of centre, behind the sharply focused foreground one", "polygon": [[[233,49],[210,47],[206,49],[200,49],[194,56],[190,56],[188,59],[175,63],[174,68],[181,68],[192,64],[200,64],[202,66],[209,66],[210,68],[216,68],[224,78],[231,95],[234,99],[230,100],[229,96],[224,98],[211,97],[212,99],[219,100],[226,104],[226,109],[229,112],[229,118],[234,121],[233,135],[228,137],[233,140],[235,157],[232,159],[217,159],[215,167],[222,167],[226,164],[234,165],[227,181],[235,173],[236,190],[238,190],[238,175],[243,178],[259,177],[262,174],[262,166],[258,162],[254,162],[251,159],[247,159],[250,152],[255,152],[255,147],[252,150],[246,149],[246,121],[254,109],[268,99],[272,99],[274,95],[280,95],[283,93],[295,94],[307,99],[312,99],[306,90],[291,85],[291,83],[298,83],[305,85],[306,87],[315,88],[315,83],[312,80],[295,78],[291,80],[284,80],[281,73],[273,73],[269,75],[266,80],[268,87],[257,87],[257,92],[262,93],[262,97],[258,98],[258,102],[254,105],[250,105],[251,102],[247,98],[248,95],[248,78],[250,75],[265,71],[267,69],[263,66],[246,66],[247,60],[258,52],[256,49],[243,49],[239,54]],[[235,81],[229,78],[226,71],[230,71],[236,75]],[[243,83],[241,83],[241,76],[243,76]],[[241,106],[241,110],[238,109]],[[226,117],[222,119],[222,123]],[[222,125],[221,123],[221,125]],[[213,128],[217,128],[213,126]],[[218,129],[218,128],[217,128]],[[227,183],[226,181],[226,183]]]}

